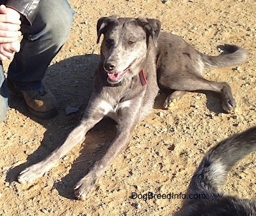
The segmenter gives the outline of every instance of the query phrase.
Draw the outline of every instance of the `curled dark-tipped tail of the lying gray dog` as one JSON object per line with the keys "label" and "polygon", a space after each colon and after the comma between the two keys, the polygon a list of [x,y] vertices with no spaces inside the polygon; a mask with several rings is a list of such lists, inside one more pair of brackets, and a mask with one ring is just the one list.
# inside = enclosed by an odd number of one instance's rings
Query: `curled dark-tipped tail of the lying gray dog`
{"label": "curled dark-tipped tail of the lying gray dog", "polygon": [[223,53],[218,56],[205,55],[200,53],[202,61],[205,66],[212,68],[222,68],[227,66],[234,66],[240,64],[248,59],[248,52],[241,47],[236,45],[221,45],[218,46]]}

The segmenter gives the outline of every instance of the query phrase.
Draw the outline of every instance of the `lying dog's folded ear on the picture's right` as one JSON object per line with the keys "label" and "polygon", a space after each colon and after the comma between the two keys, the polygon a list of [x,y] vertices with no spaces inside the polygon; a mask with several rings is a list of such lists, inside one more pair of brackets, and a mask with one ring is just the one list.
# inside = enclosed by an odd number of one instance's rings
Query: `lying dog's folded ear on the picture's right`
{"label": "lying dog's folded ear on the picture's right", "polygon": [[161,30],[161,22],[155,18],[138,18],[138,23],[151,36],[154,45],[157,47],[157,38]]}

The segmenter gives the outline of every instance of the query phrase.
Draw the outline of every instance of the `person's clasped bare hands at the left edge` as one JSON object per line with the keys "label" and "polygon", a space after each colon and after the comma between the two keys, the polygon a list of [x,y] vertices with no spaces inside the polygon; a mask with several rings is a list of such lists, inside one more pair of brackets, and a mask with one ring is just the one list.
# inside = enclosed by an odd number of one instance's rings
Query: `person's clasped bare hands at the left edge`
{"label": "person's clasped bare hands at the left edge", "polygon": [[20,14],[12,8],[0,6],[0,60],[10,59],[14,52],[19,52],[21,35]]}

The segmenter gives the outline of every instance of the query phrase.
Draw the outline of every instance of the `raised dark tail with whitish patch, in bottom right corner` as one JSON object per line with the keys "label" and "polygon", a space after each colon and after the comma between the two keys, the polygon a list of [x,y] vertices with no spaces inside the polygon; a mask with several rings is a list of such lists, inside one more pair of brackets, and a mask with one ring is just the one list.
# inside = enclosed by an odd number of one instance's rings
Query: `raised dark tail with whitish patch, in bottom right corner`
{"label": "raised dark tail with whitish patch, in bottom right corner", "polygon": [[202,159],[191,179],[188,193],[221,192],[227,172],[237,161],[255,150],[256,126],[221,141]]}

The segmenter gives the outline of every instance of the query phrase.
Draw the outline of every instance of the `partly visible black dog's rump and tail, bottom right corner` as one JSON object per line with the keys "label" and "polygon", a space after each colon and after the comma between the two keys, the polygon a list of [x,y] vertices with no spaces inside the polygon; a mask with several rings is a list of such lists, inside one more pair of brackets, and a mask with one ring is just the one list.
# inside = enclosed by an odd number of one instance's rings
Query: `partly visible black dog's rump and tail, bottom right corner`
{"label": "partly visible black dog's rump and tail, bottom right corner", "polygon": [[196,169],[188,187],[189,194],[204,194],[206,199],[185,199],[175,215],[220,216],[256,215],[256,201],[223,194],[227,172],[250,152],[256,150],[256,127],[223,140],[211,148]]}

